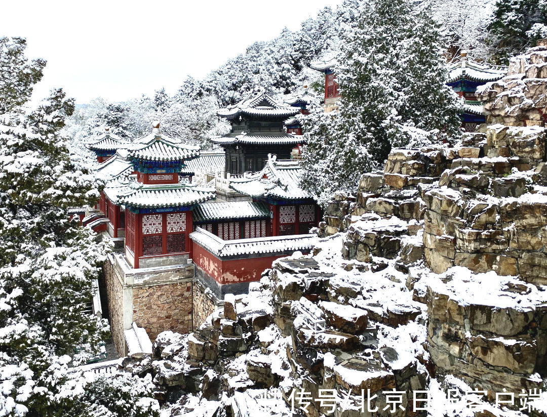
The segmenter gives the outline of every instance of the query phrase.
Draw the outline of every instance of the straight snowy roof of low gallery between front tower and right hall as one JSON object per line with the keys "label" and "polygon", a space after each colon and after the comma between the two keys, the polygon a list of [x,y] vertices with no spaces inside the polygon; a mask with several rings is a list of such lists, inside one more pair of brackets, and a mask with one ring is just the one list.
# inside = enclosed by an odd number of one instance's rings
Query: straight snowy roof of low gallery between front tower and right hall
{"label": "straight snowy roof of low gallery between front tower and right hall", "polygon": [[270,210],[265,203],[253,201],[200,203],[194,207],[193,212],[194,221],[266,219],[270,217]]}

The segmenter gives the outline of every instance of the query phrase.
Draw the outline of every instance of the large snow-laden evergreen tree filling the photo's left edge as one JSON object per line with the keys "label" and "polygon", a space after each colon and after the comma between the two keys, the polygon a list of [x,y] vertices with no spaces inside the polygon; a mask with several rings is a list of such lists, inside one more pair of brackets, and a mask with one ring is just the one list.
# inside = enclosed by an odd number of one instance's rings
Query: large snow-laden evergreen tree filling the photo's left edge
{"label": "large snow-laden evergreen tree filling the photo's left edge", "polygon": [[[11,71],[28,74],[33,64],[20,38],[2,39],[0,60],[14,49]],[[41,78],[40,67],[32,80]],[[11,71],[0,72],[0,85]],[[86,312],[106,246],[67,215],[98,195],[59,133],[73,100],[53,90],[36,109],[23,107],[32,85],[23,80],[0,110],[0,414],[48,416],[67,393],[59,369],[71,357],[86,361],[107,336],[106,321]]]}

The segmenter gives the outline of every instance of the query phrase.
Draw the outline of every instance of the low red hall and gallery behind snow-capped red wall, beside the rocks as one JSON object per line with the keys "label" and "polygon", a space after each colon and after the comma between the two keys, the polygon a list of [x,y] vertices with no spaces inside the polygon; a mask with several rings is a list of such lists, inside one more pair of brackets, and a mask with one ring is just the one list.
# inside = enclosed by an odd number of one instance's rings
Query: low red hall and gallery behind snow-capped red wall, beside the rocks
{"label": "low red hall and gallery behind snow-capped red wall, beside the rocks", "polygon": [[249,282],[282,256],[309,252],[321,210],[302,190],[300,161],[268,155],[263,169],[230,180],[230,187],[252,199],[201,203],[194,208],[196,277],[218,297],[242,293]]}

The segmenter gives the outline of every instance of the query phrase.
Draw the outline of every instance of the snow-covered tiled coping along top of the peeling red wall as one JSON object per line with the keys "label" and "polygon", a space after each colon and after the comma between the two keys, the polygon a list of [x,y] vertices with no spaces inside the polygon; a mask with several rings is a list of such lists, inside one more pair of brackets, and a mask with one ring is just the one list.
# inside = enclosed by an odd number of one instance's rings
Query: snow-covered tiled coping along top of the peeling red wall
{"label": "snow-covered tiled coping along top of the peeling red wall", "polygon": [[190,239],[217,257],[259,254],[271,256],[297,250],[310,251],[318,240],[315,234],[222,240],[201,227],[190,233]]}

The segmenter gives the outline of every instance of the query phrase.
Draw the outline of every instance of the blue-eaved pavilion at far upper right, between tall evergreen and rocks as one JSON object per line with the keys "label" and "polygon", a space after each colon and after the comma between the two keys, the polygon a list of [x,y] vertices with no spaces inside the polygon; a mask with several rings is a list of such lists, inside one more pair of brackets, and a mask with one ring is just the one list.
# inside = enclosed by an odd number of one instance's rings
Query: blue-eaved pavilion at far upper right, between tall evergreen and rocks
{"label": "blue-eaved pavilion at far upper right, between tall evergreen and rocks", "polygon": [[466,132],[475,132],[478,125],[486,122],[482,114],[482,104],[475,96],[477,87],[502,79],[505,73],[507,67],[489,66],[472,61],[467,57],[467,52],[462,52],[459,61],[449,66],[447,85],[465,100],[461,118],[462,127]]}

